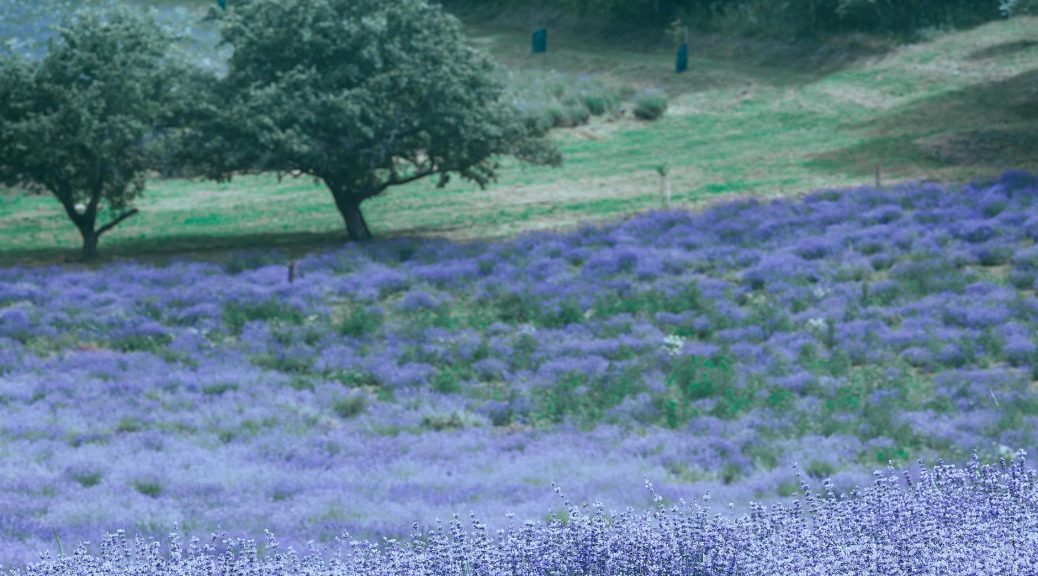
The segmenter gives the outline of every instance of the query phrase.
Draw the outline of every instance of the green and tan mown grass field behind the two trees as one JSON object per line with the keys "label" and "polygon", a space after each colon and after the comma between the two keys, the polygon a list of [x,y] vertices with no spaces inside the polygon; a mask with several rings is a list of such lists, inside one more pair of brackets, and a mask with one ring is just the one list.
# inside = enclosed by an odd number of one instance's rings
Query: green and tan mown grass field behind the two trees
{"label": "green and tan mown grass field behind the two trees", "polygon": [[[522,31],[470,32],[508,68],[564,80],[592,75],[628,91],[658,86],[671,108],[657,122],[628,112],[556,131],[564,167],[507,164],[486,191],[466,183],[439,190],[433,182],[390,190],[364,207],[377,236],[499,237],[658,208],[663,162],[681,207],[870,184],[877,165],[884,182],[1038,170],[1038,19],[816,68],[825,72],[755,64],[745,51],[726,57],[715,39],[704,40],[693,43],[690,71],[681,76],[670,51],[555,34],[550,52],[534,57]],[[105,255],[302,251],[345,238],[330,195],[307,180],[156,181],[138,207],[139,216],[102,240]],[[58,262],[79,245],[55,200],[18,191],[0,193],[0,239],[2,264]]]}

